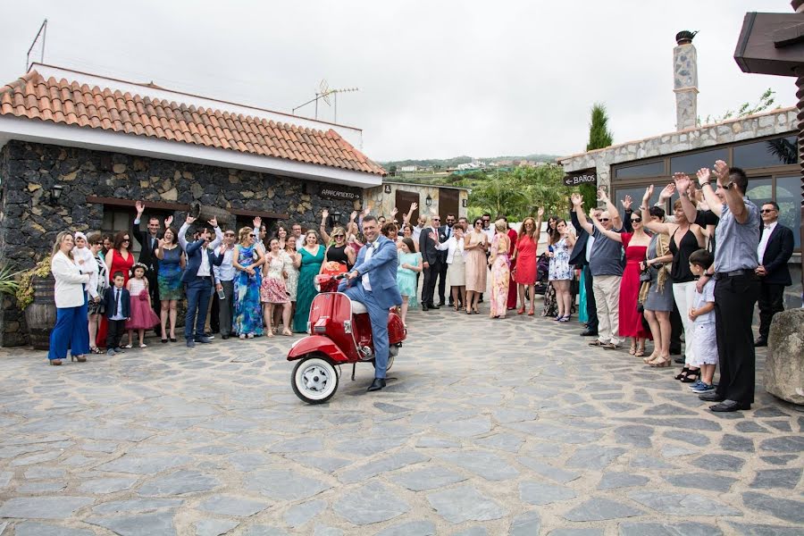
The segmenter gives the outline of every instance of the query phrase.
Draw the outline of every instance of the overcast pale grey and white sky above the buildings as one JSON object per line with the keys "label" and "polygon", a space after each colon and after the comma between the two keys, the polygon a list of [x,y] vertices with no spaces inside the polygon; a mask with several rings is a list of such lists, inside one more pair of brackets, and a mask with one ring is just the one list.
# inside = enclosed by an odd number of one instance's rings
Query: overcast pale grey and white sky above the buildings
{"label": "overcast pale grey and white sky above the buildings", "polygon": [[701,119],[766,88],[794,105],[793,78],[734,63],[752,10],[791,13],[789,0],[9,2],[0,84],[24,72],[47,18],[45,63],[281,112],[322,79],[360,88],[340,96],[338,119],[364,130],[374,160],[569,155],[586,145],[594,102],[616,143],[674,130],[682,29],[700,31]]}

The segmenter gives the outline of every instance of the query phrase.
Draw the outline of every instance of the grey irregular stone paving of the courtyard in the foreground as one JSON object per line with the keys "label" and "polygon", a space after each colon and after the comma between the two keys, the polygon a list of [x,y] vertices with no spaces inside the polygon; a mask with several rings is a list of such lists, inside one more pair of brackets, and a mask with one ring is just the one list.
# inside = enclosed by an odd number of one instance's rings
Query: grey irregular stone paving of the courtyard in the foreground
{"label": "grey irregular stone paving of the courtyard in the foreground", "polygon": [[[804,413],[716,415],[576,322],[415,313],[387,389],[293,339],[0,354],[0,534],[800,535]],[[155,343],[155,344],[154,344]]]}

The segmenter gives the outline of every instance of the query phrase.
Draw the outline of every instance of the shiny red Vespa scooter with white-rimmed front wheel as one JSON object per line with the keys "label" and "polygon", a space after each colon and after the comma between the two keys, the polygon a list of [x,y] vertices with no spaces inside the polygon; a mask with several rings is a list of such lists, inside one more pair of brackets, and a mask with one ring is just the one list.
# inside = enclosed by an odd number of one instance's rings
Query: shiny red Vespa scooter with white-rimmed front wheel
{"label": "shiny red Vespa scooter with white-rimmed front wheel", "polygon": [[[357,363],[374,363],[368,311],[363,304],[338,292],[338,281],[345,276],[326,273],[315,276],[315,288],[320,294],[310,306],[309,335],[294,342],[288,353],[288,361],[299,360],[290,377],[293,392],[308,404],[322,404],[332,398],[338,389],[341,364],[352,364],[354,380]],[[394,364],[406,335],[402,319],[389,313],[387,370]]]}

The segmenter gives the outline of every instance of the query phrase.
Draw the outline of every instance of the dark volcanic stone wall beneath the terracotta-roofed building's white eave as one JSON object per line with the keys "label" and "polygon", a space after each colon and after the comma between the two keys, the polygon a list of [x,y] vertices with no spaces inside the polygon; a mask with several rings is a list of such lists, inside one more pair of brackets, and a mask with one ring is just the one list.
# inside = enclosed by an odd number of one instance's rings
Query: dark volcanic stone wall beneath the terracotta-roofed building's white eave
{"label": "dark volcanic stone wall beneath the terracotta-roofed building's white eave", "polygon": [[[289,214],[289,223],[316,230],[324,208],[349,214],[361,206],[317,197],[322,183],[310,180],[20,141],[0,149],[0,180],[0,264],[21,269],[49,252],[59,231],[100,229],[104,205],[88,203],[90,196]],[[54,184],[63,186],[58,203],[49,199]],[[185,214],[174,217],[178,227]],[[26,343],[25,331],[13,299],[4,298],[0,345]]]}

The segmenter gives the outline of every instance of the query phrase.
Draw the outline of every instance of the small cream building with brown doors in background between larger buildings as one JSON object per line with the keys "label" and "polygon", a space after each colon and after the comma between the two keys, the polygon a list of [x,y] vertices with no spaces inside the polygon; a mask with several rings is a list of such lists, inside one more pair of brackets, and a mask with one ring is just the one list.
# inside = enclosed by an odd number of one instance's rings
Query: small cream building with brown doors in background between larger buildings
{"label": "small cream building with brown doors in background between larger buildings", "polygon": [[451,186],[430,186],[409,182],[383,181],[381,186],[365,190],[365,203],[372,206],[373,214],[389,217],[396,207],[399,211],[397,219],[402,222],[402,214],[407,214],[412,203],[418,208],[411,215],[415,222],[419,214],[432,216],[440,214],[444,222],[447,214],[456,217],[465,216],[469,205],[469,189]]}

